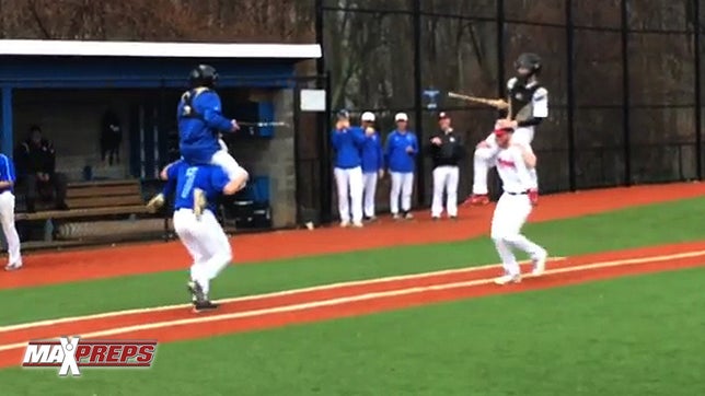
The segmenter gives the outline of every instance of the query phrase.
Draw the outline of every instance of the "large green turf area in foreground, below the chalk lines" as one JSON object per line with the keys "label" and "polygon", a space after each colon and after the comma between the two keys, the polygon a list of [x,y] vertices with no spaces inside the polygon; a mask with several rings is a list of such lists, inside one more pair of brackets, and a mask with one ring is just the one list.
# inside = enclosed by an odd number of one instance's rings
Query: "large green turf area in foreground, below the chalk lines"
{"label": "large green turf area in foreground, below the chalk lines", "polygon": [[[8,395],[705,394],[705,268],[159,346],[143,371],[0,371]],[[9,392],[4,392],[9,391]]]}

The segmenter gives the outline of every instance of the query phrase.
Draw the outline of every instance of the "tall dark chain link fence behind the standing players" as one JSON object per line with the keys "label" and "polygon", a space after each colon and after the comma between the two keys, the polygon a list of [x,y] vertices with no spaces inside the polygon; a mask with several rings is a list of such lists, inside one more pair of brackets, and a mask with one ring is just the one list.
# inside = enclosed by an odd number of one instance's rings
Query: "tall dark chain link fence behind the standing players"
{"label": "tall dark chain link fence behind the standing players", "polygon": [[[446,110],[472,153],[497,114],[447,92],[505,97],[516,57],[536,53],[551,103],[533,142],[544,193],[702,179],[704,2],[319,0],[319,71],[331,73],[332,110],[375,112],[383,132],[406,112],[421,141]],[[461,194],[472,161],[463,171]]]}

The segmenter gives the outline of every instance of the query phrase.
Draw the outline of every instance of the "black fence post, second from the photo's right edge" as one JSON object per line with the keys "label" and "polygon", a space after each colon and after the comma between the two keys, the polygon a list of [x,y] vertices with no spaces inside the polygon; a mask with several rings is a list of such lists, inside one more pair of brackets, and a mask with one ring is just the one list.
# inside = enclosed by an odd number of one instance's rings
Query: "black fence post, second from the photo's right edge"
{"label": "black fence post, second from the photo's right edge", "polygon": [[629,136],[629,5],[622,0],[622,133],[624,139],[624,184],[632,185],[632,143]]}

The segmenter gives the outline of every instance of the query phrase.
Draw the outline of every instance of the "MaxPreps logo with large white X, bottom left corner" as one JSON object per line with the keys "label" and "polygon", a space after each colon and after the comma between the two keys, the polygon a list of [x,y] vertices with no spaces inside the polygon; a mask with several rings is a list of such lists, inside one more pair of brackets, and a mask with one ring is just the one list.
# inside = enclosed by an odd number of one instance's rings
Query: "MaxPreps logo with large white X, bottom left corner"
{"label": "MaxPreps logo with large white X, bottom left corner", "polygon": [[60,368],[59,376],[80,376],[80,368],[150,368],[157,341],[101,340],[60,337],[30,341],[23,368]]}

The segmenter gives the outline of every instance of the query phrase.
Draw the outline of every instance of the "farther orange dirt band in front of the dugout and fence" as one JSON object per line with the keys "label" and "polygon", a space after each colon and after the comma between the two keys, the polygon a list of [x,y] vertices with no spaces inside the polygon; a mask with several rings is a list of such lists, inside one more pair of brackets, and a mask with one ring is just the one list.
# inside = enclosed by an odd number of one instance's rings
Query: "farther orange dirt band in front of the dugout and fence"
{"label": "farther orange dirt band in front of the dugout and fence", "polygon": [[[531,221],[564,219],[703,195],[703,183],[552,195],[542,197]],[[365,230],[330,228],[241,235],[233,244],[235,261],[245,264],[365,248],[463,241],[488,231],[493,208],[461,208],[456,222],[431,222],[427,213],[421,213],[413,222],[395,223],[382,219]],[[21,271],[0,277],[0,289],[181,270],[187,268],[189,258],[178,242],[170,242],[38,253],[27,255],[24,261],[25,268]]]}

